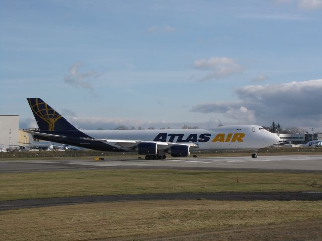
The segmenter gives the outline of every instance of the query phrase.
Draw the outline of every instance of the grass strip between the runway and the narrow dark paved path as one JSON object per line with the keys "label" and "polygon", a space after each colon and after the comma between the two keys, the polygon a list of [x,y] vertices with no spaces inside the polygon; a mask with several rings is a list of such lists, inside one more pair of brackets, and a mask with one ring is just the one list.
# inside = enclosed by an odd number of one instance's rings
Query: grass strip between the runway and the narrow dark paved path
{"label": "grass strip between the runway and the narrow dark paved path", "polygon": [[0,174],[0,200],[109,194],[269,191],[322,191],[322,174],[133,169]]}

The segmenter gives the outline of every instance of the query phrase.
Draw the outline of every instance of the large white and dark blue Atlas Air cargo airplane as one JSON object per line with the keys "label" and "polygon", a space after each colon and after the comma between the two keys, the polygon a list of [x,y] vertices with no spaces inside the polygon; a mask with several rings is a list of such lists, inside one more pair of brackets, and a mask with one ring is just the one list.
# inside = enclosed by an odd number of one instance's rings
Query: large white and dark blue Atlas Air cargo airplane
{"label": "large white and dark blue Atlas Air cargo airplane", "polygon": [[234,125],[211,129],[82,130],[75,128],[40,98],[27,98],[39,130],[26,131],[33,138],[87,149],[137,152],[145,159],[187,157],[190,149],[254,150],[270,146],[279,137],[261,126]]}

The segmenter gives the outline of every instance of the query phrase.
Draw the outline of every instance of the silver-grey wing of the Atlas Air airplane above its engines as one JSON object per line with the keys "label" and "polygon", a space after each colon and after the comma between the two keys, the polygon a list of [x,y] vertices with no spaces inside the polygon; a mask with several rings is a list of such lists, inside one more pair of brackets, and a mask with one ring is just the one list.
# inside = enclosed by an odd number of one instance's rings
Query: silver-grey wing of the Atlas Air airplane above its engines
{"label": "silver-grey wing of the Atlas Air airplane above its engines", "polygon": [[108,143],[111,146],[117,147],[124,151],[133,151],[137,148],[137,145],[140,143],[155,143],[157,144],[158,150],[167,150],[171,146],[188,146],[190,148],[197,148],[198,144],[195,143],[174,143],[174,142],[154,142],[154,141],[143,141],[143,140],[118,140],[118,139],[95,139],[95,138],[81,138],[87,141],[100,141]]}

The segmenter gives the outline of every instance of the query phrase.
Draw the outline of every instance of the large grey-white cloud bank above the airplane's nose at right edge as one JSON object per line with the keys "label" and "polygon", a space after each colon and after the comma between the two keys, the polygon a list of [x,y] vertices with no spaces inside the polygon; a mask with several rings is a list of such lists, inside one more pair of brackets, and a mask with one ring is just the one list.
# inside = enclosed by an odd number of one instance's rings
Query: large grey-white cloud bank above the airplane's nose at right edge
{"label": "large grey-white cloud bank above the airplane's nose at right edge", "polygon": [[[285,126],[319,125],[322,128],[322,79],[284,84],[248,85],[236,89],[240,101],[204,103],[192,112],[224,114],[227,118],[245,118],[265,125],[283,122]],[[239,111],[239,112],[238,112]],[[236,122],[239,123],[239,122]]]}

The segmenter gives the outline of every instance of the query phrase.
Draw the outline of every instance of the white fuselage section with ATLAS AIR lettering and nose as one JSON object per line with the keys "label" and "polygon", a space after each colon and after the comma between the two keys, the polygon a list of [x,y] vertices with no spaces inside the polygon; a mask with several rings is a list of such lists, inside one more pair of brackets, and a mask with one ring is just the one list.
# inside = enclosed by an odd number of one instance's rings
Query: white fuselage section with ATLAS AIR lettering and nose
{"label": "white fuselage section with ATLAS AIR lettering and nose", "polygon": [[279,138],[257,125],[223,126],[212,129],[81,130],[94,139],[195,143],[198,149],[258,149]]}

